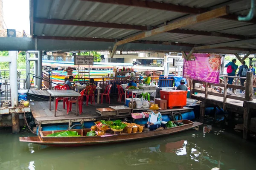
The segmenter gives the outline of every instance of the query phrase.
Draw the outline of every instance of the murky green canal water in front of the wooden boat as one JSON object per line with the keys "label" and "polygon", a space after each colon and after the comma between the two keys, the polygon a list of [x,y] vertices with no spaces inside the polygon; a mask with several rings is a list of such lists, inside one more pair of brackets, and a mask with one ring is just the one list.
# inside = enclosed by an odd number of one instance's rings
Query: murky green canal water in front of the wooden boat
{"label": "murky green canal water in front of the wooden boat", "polygon": [[255,170],[256,144],[211,126],[120,144],[73,148],[19,142],[0,130],[0,170]]}

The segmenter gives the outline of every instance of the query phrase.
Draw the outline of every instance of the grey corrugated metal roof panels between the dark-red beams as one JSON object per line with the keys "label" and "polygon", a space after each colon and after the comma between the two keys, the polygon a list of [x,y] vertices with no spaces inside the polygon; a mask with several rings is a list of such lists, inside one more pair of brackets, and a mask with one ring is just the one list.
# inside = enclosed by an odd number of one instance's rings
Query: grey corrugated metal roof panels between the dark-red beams
{"label": "grey corrugated metal roof panels between the dark-red beams", "polygon": [[[250,0],[154,0],[162,3],[189,6],[195,8],[214,8],[219,4],[227,3],[230,12],[247,14],[250,8]],[[79,20],[103,23],[119,23],[138,26],[159,26],[165,21],[175,20],[186,14],[172,11],[164,11],[134,6],[122,6],[106,3],[96,3],[80,0],[37,0],[35,17]],[[239,34],[256,36],[256,25],[252,23],[238,22],[215,18],[206,22],[187,26],[183,29],[195,31],[211,31],[227,34]],[[34,24],[35,35],[60,36],[60,37],[98,37],[122,39],[141,32],[140,30],[95,28],[84,26],[67,26],[53,24]],[[235,41],[225,37],[199,36],[190,34],[163,33],[143,40],[170,41],[193,44],[216,44]],[[248,48],[256,48],[255,44],[245,45]]]}

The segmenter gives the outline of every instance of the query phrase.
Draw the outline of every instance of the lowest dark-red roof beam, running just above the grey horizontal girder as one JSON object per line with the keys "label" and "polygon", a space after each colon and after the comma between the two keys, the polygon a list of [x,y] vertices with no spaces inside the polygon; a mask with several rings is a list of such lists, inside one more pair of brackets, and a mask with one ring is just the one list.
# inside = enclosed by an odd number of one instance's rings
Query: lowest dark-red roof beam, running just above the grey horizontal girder
{"label": "lowest dark-red roof beam, running just above the grey horizontal girder", "polygon": [[[55,36],[41,36],[35,35],[35,38],[42,40],[71,40],[71,41],[96,41],[96,42],[116,42],[115,39],[107,39],[107,38],[93,38],[93,37],[55,37]],[[189,43],[176,43],[176,42],[168,42],[168,41],[145,41],[145,40],[137,40],[132,43],[139,44],[158,44],[158,45],[176,45],[183,47],[198,47],[202,46],[201,44],[189,44]],[[239,47],[222,47],[218,49],[224,50],[233,50],[233,51],[250,51],[249,48],[239,48]]]}

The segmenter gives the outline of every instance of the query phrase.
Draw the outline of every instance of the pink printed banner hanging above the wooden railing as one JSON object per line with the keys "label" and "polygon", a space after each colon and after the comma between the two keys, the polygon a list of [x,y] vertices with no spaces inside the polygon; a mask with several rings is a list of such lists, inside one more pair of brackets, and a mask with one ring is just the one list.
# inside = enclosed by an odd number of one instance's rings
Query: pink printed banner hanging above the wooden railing
{"label": "pink printed banner hanging above the wooden railing", "polygon": [[218,84],[220,67],[220,54],[192,54],[192,60],[184,59],[183,77]]}

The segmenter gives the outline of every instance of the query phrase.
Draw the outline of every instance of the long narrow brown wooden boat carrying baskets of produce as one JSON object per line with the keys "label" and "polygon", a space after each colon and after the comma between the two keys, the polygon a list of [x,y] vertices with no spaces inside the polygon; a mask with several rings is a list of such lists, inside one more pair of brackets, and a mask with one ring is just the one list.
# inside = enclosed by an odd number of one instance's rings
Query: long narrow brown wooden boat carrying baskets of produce
{"label": "long narrow brown wooden boat carrying baskets of produce", "polygon": [[172,133],[178,133],[184,130],[192,129],[196,126],[202,125],[200,122],[192,122],[190,120],[178,120],[177,122],[183,123],[183,125],[158,129],[154,131],[141,132],[141,133],[121,133],[116,135],[105,135],[105,136],[86,136],[87,129],[73,129],[77,131],[78,137],[49,137],[47,135],[61,132],[64,130],[51,130],[51,131],[39,131],[39,136],[35,137],[20,137],[20,142],[29,142],[34,144],[43,144],[49,146],[60,146],[60,147],[73,147],[83,145],[95,145],[104,143],[117,143],[117,142],[128,142],[133,140],[154,138],[157,136],[170,135]]}

